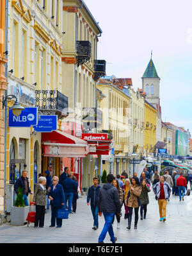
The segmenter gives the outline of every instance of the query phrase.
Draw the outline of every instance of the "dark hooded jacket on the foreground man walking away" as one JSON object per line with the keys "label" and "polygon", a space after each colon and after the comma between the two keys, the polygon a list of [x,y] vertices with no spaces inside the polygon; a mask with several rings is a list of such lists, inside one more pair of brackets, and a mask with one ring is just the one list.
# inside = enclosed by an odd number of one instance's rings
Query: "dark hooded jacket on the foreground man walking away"
{"label": "dark hooded jacket on the foreground man walking away", "polygon": [[105,183],[99,190],[97,200],[98,212],[119,213],[121,204],[118,191],[111,183]]}

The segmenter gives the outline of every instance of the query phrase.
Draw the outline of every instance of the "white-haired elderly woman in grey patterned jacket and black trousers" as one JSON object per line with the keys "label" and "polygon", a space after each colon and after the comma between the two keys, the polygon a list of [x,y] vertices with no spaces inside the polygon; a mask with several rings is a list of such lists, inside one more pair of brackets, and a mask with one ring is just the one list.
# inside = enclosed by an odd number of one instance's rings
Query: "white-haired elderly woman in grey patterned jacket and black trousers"
{"label": "white-haired elderly woman in grey patterned jacket and black trousers", "polygon": [[33,195],[33,201],[36,203],[36,215],[35,215],[35,228],[44,227],[44,219],[45,219],[45,205],[47,204],[47,194],[49,194],[49,189],[46,190],[46,178],[44,176],[40,176],[38,178],[39,184],[36,184],[35,191]]}

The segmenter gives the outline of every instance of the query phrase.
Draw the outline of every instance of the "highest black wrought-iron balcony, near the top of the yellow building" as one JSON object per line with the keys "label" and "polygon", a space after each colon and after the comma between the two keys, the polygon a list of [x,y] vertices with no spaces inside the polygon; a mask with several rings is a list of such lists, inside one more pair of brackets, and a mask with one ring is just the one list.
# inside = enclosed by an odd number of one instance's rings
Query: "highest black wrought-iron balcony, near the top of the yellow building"
{"label": "highest black wrought-iron balcony, near the top of the yellow building", "polygon": [[90,61],[91,50],[92,44],[89,41],[77,41],[77,67]]}

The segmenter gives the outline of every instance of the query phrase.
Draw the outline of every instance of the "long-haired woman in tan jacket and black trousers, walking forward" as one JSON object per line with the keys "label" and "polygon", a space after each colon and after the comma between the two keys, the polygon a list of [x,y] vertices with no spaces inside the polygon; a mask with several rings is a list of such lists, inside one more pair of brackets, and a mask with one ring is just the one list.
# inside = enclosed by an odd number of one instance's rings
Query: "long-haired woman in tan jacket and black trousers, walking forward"
{"label": "long-haired woman in tan jacket and black trousers, walking forward", "polygon": [[132,177],[132,185],[127,194],[125,204],[128,206],[128,226],[127,229],[131,229],[132,210],[134,208],[134,229],[137,229],[138,225],[138,212],[140,208],[139,196],[141,194],[141,187],[138,177]]}

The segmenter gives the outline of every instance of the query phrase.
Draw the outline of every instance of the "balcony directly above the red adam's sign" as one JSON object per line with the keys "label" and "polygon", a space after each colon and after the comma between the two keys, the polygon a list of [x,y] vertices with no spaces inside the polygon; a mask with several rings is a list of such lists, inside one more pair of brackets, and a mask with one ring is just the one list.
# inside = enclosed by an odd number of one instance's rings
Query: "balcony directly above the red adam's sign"
{"label": "balcony directly above the red adam's sign", "polygon": [[102,126],[102,111],[99,108],[83,108],[83,130]]}

